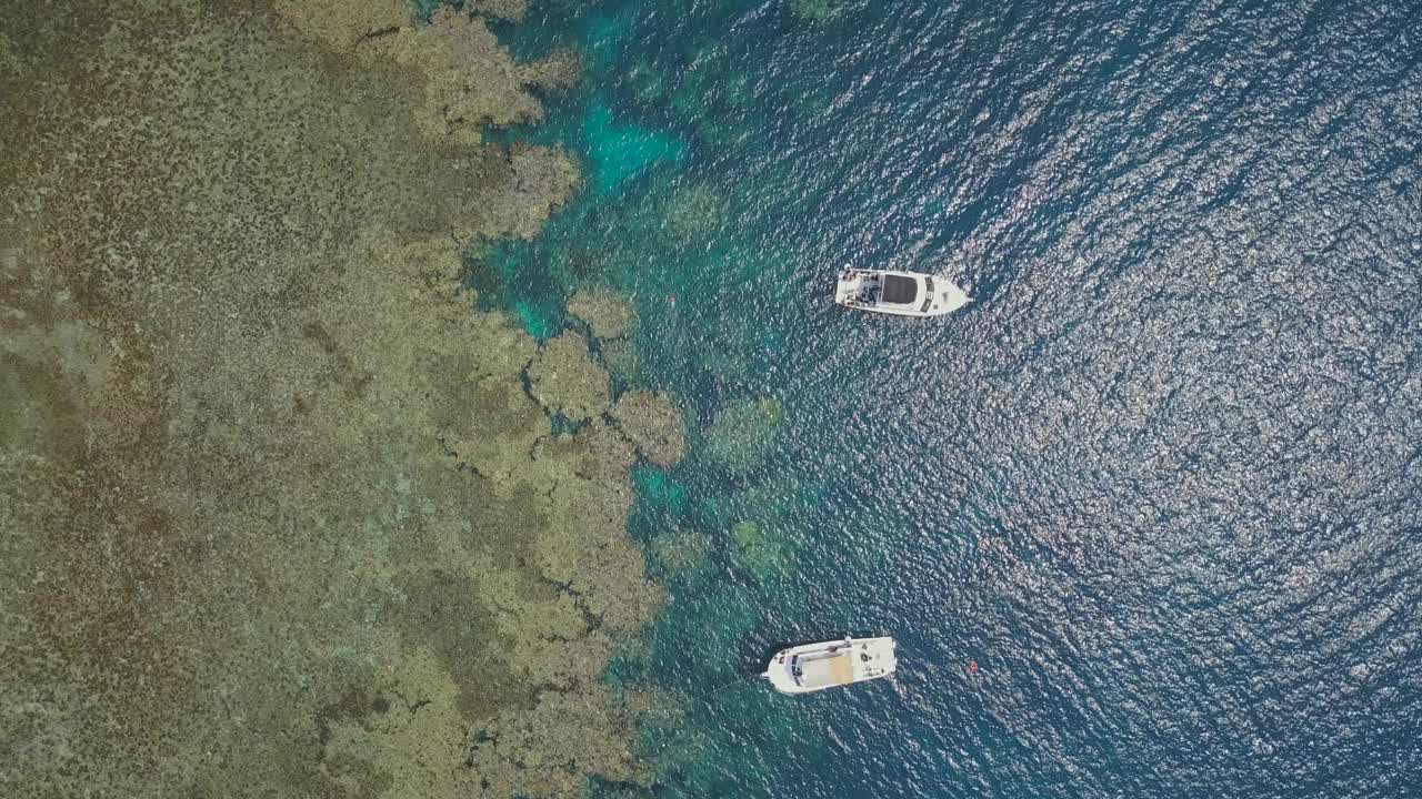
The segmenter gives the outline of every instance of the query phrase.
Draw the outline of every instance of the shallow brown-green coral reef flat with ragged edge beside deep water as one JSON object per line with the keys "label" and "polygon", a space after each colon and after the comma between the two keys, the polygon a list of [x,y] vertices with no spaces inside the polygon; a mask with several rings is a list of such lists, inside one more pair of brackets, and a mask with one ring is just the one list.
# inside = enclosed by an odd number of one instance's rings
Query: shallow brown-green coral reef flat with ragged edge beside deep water
{"label": "shallow brown-green coral reef flat with ragged edge beside deep water", "polygon": [[483,136],[577,80],[522,9],[0,6],[6,796],[648,779],[599,675],[678,414],[459,287],[579,185]]}

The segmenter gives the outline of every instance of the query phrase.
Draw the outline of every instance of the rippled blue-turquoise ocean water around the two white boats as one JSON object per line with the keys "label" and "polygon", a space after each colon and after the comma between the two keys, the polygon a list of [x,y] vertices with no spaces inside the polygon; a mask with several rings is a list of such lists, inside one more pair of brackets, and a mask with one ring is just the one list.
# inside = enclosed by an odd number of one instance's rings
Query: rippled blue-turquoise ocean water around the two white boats
{"label": "rippled blue-turquoise ocean water around the two white boats", "polygon": [[[468,256],[542,338],[631,299],[617,385],[680,697],[650,790],[1422,796],[1422,4],[535,3],[584,188]],[[947,274],[933,321],[829,301]],[[805,698],[786,643],[899,638]]]}

